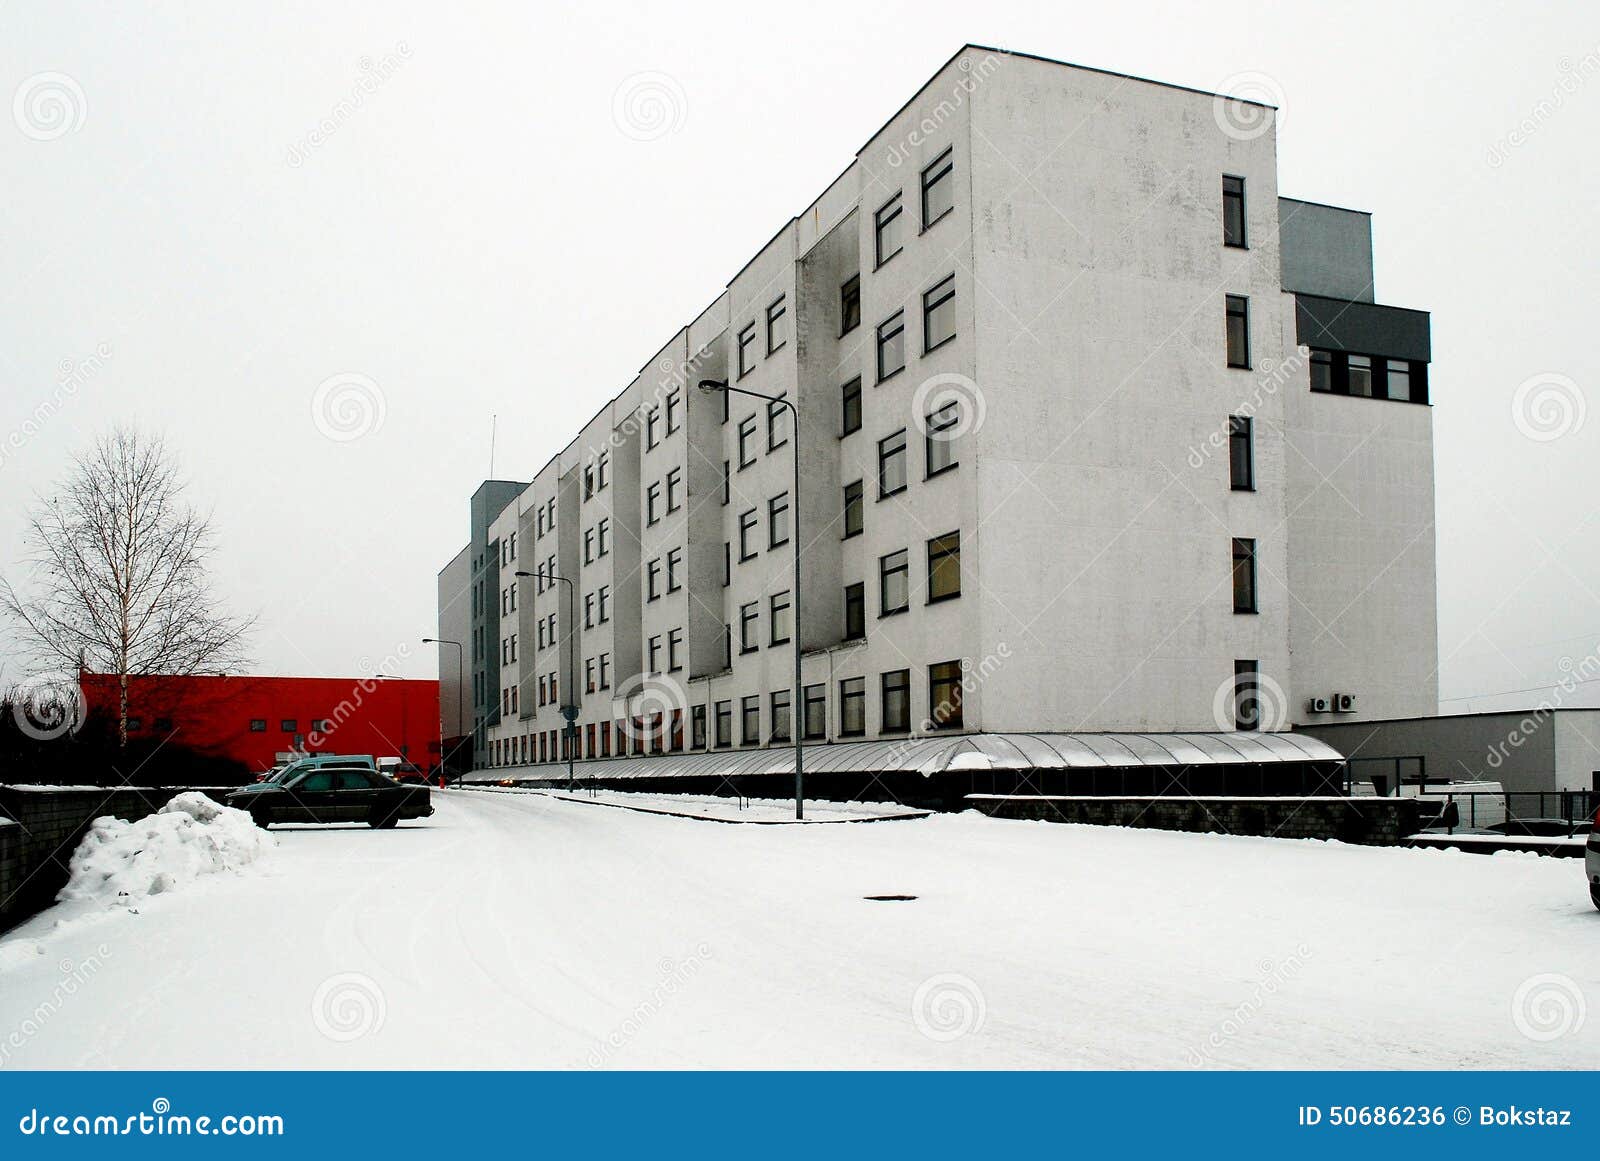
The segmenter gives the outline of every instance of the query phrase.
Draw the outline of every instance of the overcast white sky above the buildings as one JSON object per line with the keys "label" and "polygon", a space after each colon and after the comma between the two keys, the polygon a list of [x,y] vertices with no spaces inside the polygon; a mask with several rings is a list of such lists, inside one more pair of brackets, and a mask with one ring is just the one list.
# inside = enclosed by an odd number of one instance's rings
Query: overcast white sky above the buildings
{"label": "overcast white sky above the buildings", "polygon": [[[1373,211],[1378,299],[1434,312],[1446,708],[1531,705],[1600,646],[1600,405],[1554,440],[1514,422],[1533,376],[1600,385],[1594,0],[13,0],[0,433],[64,363],[109,357],[0,449],[0,568],[30,496],[139,421],[214,507],[259,670],[430,676],[416,641],[490,416],[498,475],[528,478],[968,40],[1205,90],[1269,77],[1282,192]],[[14,99],[45,72],[82,123],[38,141]],[[640,72],[682,94],[648,141],[614,117]],[[360,440],[314,422],[336,374],[382,393]]]}

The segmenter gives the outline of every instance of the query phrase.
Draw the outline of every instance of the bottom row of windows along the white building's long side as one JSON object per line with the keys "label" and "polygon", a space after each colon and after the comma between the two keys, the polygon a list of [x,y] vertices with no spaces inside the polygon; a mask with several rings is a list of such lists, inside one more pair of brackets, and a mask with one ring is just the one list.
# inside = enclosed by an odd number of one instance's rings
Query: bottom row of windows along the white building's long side
{"label": "bottom row of windows along the white building's long side", "polygon": [[[880,673],[878,734],[912,732],[910,670],[898,668]],[[853,676],[838,681],[837,688],[837,737],[864,737],[869,724],[867,678]],[[690,736],[685,739],[683,710],[632,721],[589,723],[582,729],[549,729],[520,737],[493,739],[490,760],[496,766],[565,761],[571,758],[610,758],[611,739],[616,737],[616,756],[632,750],[645,753],[682,753],[690,750],[730,748],[733,745],[782,745],[794,740],[790,734],[792,691],[779,689],[766,696],[766,721],[762,721],[762,696],[725,699],[710,707],[701,704],[688,712]],[[928,667],[928,713],[922,729],[962,729],[965,726],[962,662],[944,660]],[[738,742],[734,742],[734,713],[738,712]],[[803,740],[827,737],[827,686],[808,684],[803,689],[800,710]],[[688,747],[685,747],[685,740]]]}

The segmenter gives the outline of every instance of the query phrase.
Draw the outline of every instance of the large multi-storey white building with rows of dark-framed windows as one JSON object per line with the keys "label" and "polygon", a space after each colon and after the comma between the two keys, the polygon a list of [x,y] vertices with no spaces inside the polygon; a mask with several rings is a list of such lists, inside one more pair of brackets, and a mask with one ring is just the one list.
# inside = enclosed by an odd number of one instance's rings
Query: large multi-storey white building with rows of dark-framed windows
{"label": "large multi-storey white building with rows of dark-framed windows", "polygon": [[1371,272],[1366,214],[1278,195],[1275,110],[963,48],[480,488],[475,764],[1434,713],[1429,320]]}

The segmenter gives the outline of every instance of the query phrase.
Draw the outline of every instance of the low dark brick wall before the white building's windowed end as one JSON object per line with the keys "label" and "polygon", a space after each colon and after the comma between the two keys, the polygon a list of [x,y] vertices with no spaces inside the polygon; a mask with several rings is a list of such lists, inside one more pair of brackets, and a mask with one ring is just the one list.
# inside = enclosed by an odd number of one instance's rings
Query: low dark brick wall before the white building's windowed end
{"label": "low dark brick wall before the white building's windowed end", "polygon": [[1331,838],[1398,846],[1416,833],[1414,798],[1099,798],[968,795],[966,804],[997,819],[1082,822],[1213,835]]}

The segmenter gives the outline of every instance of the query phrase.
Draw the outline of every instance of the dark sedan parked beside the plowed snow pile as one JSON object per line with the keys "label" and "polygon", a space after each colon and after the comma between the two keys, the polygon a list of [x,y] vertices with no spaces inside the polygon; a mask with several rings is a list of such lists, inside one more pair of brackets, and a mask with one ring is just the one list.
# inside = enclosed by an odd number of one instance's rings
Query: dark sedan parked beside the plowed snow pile
{"label": "dark sedan parked beside the plowed snow pile", "polygon": [[349,758],[307,758],[274,782],[240,787],[227,804],[246,811],[258,827],[274,822],[365,822],[394,827],[434,812],[426,785],[400,785]]}

